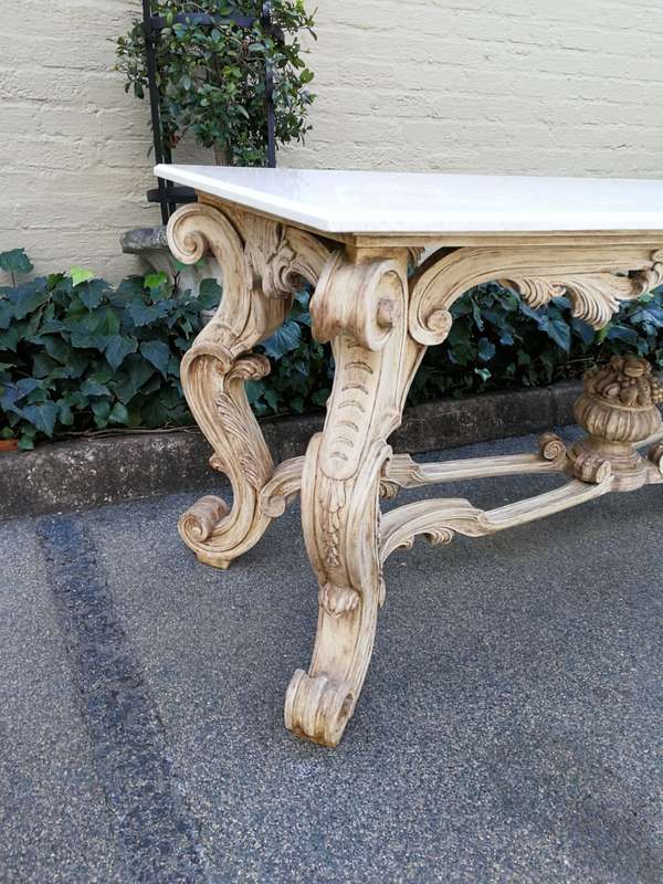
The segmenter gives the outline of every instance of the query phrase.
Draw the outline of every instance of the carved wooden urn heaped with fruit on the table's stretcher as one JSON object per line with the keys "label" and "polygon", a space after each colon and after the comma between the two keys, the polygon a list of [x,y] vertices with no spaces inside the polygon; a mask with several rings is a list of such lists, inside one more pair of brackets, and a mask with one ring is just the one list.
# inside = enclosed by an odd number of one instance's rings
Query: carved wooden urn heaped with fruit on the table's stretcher
{"label": "carved wooden urn heaped with fruit on the table's stretcher", "polygon": [[609,365],[586,372],[583,388],[575,415],[589,436],[573,445],[571,459],[592,454],[609,461],[615,472],[640,471],[642,457],[633,445],[663,423],[656,408],[663,402],[663,385],[651,365],[646,359],[613,356]]}

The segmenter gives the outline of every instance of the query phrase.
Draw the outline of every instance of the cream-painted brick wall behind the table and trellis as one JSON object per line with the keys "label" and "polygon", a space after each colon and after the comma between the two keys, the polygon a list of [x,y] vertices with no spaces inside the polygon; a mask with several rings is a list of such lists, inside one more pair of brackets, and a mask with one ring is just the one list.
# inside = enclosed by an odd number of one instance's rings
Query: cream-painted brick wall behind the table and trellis
{"label": "cream-painted brick wall behind the table and trellis", "polygon": [[[312,2],[313,4],[313,2]],[[113,39],[138,0],[22,0],[0,18],[0,250],[38,271],[137,269],[158,222],[148,106]],[[661,177],[661,0],[318,0],[317,102],[280,164]],[[185,146],[179,161],[201,161]]]}

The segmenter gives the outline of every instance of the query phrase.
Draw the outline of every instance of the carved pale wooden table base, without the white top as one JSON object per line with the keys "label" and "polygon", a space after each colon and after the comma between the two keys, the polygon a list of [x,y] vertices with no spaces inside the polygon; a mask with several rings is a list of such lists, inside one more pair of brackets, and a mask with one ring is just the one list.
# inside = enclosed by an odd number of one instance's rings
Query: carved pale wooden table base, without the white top
{"label": "carved pale wooden table base, without the white top", "polygon": [[[182,362],[182,385],[214,449],[212,465],[232,483],[233,504],[203,497],[182,515],[179,530],[201,561],[227,568],[301,492],[319,615],[311,666],[297,670],[287,690],[285,723],[335,746],[366,676],[390,552],[410,546],[418,534],[435,544],[455,533],[493,534],[610,491],[663,481],[663,445],[654,444],[660,391],[646,368],[631,362],[587,380],[577,417],[590,435],[568,452],[547,434],[539,453],[511,457],[418,465],[394,455],[389,435],[401,421],[425,348],[449,334],[453,303],[478,283],[501,280],[535,307],[566,292],[573,314],[599,328],[621,301],[661,283],[661,238],[558,242],[523,235],[512,244],[440,249],[409,276],[413,236],[387,245],[385,238],[344,243],[199,197],[171,219],[170,248],[186,263],[214,254],[224,296]],[[267,360],[251,350],[284,320],[303,281],[315,286],[313,334],[332,341],[336,377],[324,431],[311,440],[306,456],[274,467],[244,383],[267,373]],[[643,459],[633,444],[652,433],[645,441],[653,448]],[[537,472],[562,474],[564,484],[488,512],[442,498],[380,515],[380,495],[393,496],[400,487]]]}

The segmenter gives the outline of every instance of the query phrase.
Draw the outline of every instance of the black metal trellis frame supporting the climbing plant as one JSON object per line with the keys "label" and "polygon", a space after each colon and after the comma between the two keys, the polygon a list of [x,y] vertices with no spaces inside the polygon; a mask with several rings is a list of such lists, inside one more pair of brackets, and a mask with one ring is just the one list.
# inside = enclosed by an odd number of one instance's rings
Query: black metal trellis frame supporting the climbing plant
{"label": "black metal trellis frame supporting the climbing plant", "polygon": [[[230,15],[208,15],[199,12],[180,12],[175,15],[175,22],[182,24],[235,24],[239,28],[252,28],[257,21],[255,15],[242,15],[233,13]],[[283,31],[272,23],[270,3],[263,3],[260,21],[264,30],[275,40],[283,42]],[[170,145],[165,144],[164,133],[161,131],[161,114],[159,103],[159,87],[157,85],[157,43],[159,33],[166,28],[166,20],[162,15],[152,15],[150,0],[143,0],[143,28],[145,32],[145,60],[147,67],[147,81],[149,88],[149,108],[151,115],[152,139],[155,146],[155,160],[157,162],[172,162]],[[267,115],[267,166],[276,166],[276,135],[274,118],[274,80],[270,64],[265,64],[265,102]],[[188,187],[173,185],[164,178],[157,178],[158,187],[147,191],[147,199],[150,202],[158,202],[161,207],[161,220],[165,224],[175,211],[176,207],[185,202],[194,202],[196,192]]]}

